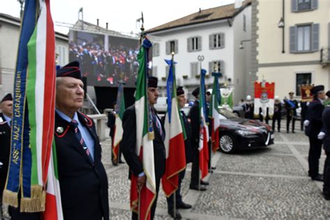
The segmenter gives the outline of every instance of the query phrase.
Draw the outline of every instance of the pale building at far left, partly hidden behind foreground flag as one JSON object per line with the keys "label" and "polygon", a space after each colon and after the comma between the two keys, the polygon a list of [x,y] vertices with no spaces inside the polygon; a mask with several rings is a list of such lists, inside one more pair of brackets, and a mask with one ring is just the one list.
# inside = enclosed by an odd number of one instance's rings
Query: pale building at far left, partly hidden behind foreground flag
{"label": "pale building at far left, partly hidden behind foreground flag", "polygon": [[[17,17],[0,13],[0,99],[7,93],[13,93],[20,22]],[[56,32],[58,65],[68,63],[68,48],[68,36]]]}

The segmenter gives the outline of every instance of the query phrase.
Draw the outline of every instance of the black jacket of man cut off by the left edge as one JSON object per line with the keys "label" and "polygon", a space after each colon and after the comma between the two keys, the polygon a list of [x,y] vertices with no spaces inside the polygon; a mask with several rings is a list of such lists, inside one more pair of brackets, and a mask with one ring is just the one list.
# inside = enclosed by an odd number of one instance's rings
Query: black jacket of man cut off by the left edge
{"label": "black jacket of man cut off by the left edge", "polygon": [[5,188],[7,173],[8,173],[8,163],[10,157],[10,126],[0,113],[0,162],[3,163],[0,168],[0,195]]}

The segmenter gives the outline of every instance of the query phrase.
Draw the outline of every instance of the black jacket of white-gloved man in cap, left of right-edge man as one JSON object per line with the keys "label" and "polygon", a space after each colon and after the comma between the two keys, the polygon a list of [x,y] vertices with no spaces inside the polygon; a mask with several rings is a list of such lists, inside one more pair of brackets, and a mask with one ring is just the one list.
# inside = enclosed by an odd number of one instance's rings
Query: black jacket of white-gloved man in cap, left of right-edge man
{"label": "black jacket of white-gloved man in cap, left of right-edge man", "polygon": [[322,129],[322,112],[324,105],[318,99],[314,99],[307,109],[307,120],[309,125],[306,127],[306,135],[311,138],[317,138],[317,134]]}

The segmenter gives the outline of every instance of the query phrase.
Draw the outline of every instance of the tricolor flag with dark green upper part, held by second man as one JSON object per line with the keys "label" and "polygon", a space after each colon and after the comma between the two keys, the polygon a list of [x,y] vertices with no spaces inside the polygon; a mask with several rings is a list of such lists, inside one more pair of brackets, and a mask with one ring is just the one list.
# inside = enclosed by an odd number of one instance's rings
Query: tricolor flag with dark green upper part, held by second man
{"label": "tricolor flag with dark green upper part, held by second man", "polygon": [[[143,164],[143,171],[146,173],[146,185],[140,192],[137,190],[137,176],[131,178],[131,201],[130,205],[134,212],[139,213],[139,219],[150,219],[152,203],[156,198],[156,178],[154,162],[154,146],[152,120],[150,118],[150,106],[147,97],[147,62],[148,49],[151,42],[143,40],[138,54],[139,72],[136,81],[135,113],[136,113],[136,155]],[[140,203],[140,204],[139,204]]]}

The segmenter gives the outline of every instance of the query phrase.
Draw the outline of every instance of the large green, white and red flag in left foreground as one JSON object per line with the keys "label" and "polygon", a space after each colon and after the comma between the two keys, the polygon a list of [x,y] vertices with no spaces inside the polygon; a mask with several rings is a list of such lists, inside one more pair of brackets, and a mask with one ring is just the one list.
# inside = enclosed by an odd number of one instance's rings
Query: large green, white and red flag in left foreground
{"label": "large green, white and red flag in left foreground", "polygon": [[[31,197],[38,198],[42,192],[41,208],[45,209],[45,219],[63,219],[56,149],[52,147],[56,96],[55,32],[49,0],[40,0],[39,6],[36,29],[28,43],[29,77],[26,97],[29,103],[32,153]],[[44,189],[47,189],[46,199]]]}

